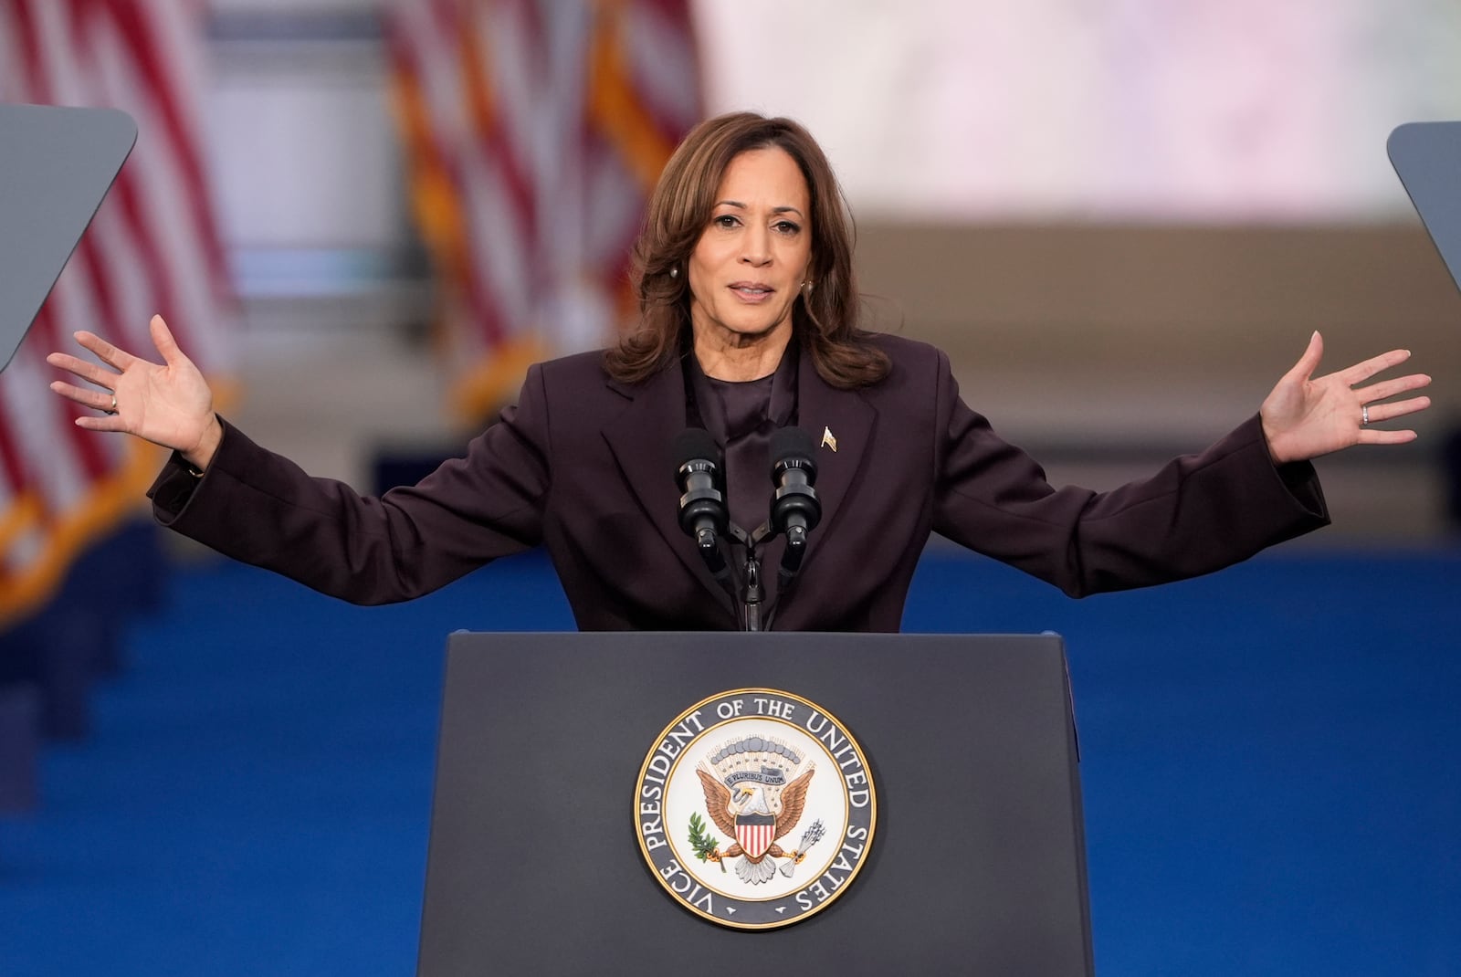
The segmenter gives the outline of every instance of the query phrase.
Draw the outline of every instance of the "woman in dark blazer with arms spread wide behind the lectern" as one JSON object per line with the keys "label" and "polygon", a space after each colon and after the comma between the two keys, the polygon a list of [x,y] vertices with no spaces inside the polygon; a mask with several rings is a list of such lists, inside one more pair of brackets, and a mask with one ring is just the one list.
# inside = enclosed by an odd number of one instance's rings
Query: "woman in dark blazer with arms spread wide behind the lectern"
{"label": "woman in dark blazer with arms spread wide behind the lectern", "polygon": [[[1354,390],[1408,353],[1311,380],[1315,333],[1256,416],[1199,456],[1112,492],[1055,489],[958,397],[937,349],[862,332],[850,222],[821,149],[754,114],[701,123],[675,152],[636,245],[643,323],[606,353],[529,369],[519,405],[412,488],[361,498],[310,479],[212,410],[161,318],[162,365],[77,333],[110,369],[53,353],[101,391],[77,424],[174,450],[149,495],[159,521],[358,603],[402,600],[543,543],[579,627],[736,628],[739,606],[676,521],[671,444],[725,447],[732,520],[764,518],[770,432],[815,454],[823,520],[782,629],[896,631],[929,532],[1072,596],[1210,572],[1328,521],[1309,459],[1413,431],[1369,425],[1429,406],[1424,375]],[[777,545],[764,552],[767,567]]]}

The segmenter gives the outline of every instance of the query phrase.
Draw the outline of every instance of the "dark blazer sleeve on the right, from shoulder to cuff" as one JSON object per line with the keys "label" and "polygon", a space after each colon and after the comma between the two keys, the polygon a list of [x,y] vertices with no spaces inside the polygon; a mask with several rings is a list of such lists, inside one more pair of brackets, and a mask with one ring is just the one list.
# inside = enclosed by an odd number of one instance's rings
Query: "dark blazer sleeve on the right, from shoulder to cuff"
{"label": "dark blazer sleeve on the right, from shoulder to cuff", "polygon": [[938,371],[934,530],[1067,594],[1213,572],[1330,521],[1313,466],[1275,466],[1256,416],[1148,479],[1053,488],[964,405],[942,353]]}

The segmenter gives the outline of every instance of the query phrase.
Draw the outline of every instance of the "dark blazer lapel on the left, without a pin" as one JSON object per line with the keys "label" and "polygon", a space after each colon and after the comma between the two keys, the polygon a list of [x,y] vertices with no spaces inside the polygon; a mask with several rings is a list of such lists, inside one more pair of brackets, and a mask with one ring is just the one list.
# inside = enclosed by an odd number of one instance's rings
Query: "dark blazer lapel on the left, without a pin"
{"label": "dark blazer lapel on the left, without a pin", "polygon": [[603,438],[655,532],[663,537],[685,570],[732,615],[735,602],[695,552],[694,540],[679,529],[679,488],[675,485],[675,437],[685,429],[685,381],[676,364],[641,384],[609,381],[630,397],[628,409],[603,426]]}

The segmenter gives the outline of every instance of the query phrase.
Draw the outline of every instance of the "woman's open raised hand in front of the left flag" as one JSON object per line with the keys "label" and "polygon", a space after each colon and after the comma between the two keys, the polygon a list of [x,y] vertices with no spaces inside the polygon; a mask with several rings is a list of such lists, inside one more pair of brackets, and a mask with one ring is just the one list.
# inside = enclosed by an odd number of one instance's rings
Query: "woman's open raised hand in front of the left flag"
{"label": "woman's open raised hand in front of the left flag", "polygon": [[76,333],[76,342],[111,367],[69,353],[51,353],[45,362],[70,371],[101,390],[88,390],[57,380],[51,390],[83,407],[101,410],[101,416],[76,418],[76,426],[88,431],[123,431],[172,448],[191,464],[206,469],[224,438],[224,429],[213,413],[213,391],[193,361],[183,355],[168,324],[153,315],[148,324],[152,343],[162,355],[162,364],[139,359],[117,349],[95,333]]}

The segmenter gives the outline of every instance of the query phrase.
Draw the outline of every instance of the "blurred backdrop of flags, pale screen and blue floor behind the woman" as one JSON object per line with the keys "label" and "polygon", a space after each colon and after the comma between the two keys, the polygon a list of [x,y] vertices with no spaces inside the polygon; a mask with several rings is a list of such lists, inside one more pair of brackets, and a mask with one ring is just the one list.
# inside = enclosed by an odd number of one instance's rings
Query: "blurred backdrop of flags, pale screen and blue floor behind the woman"
{"label": "blurred backdrop of flags, pale screen and blue floor behind the woman", "polygon": [[1461,971],[1461,292],[1385,156],[1461,118],[1457,4],[0,0],[0,99],[140,127],[0,374],[0,973],[409,971],[441,638],[571,628],[533,555],[364,610],[161,539],[44,355],[161,311],[254,440],[413,480],[631,318],[647,187],[739,108],[1055,483],[1202,448],[1315,329],[1414,350],[1420,440],[1321,460],[1322,533],[1081,603],[935,542],[906,627],[1067,635],[1103,973]]}

